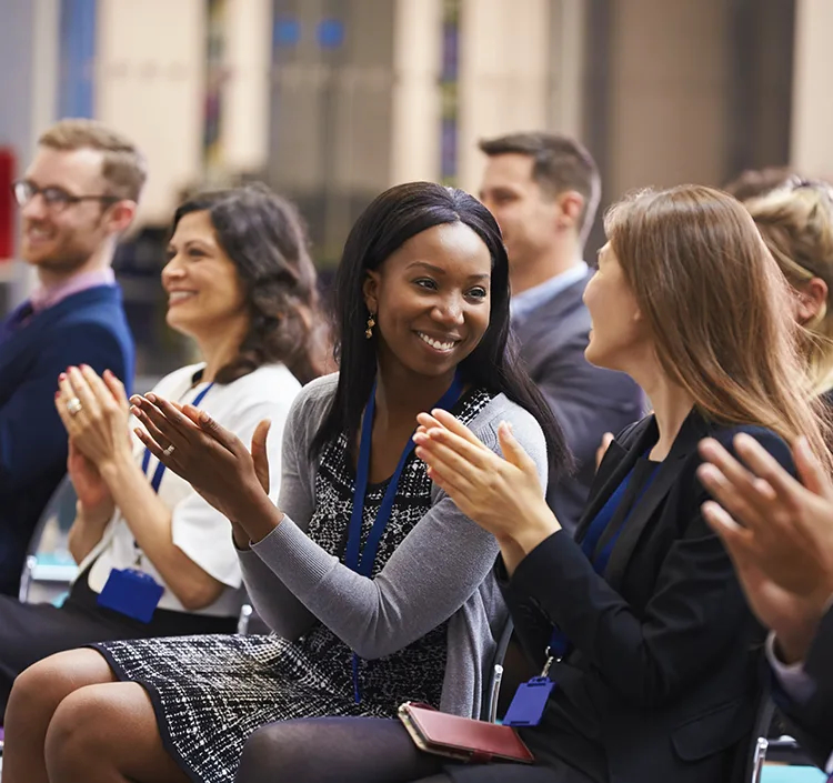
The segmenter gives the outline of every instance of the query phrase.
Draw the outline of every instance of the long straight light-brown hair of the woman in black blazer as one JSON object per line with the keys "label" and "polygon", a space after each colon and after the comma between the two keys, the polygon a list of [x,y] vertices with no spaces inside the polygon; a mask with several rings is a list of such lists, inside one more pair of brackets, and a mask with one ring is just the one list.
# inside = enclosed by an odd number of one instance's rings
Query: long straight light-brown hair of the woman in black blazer
{"label": "long straight light-brown hair of the woman in black blazer", "polygon": [[631,195],[604,222],[660,364],[697,410],[787,441],[806,435],[830,470],[790,287],[744,207],[681,185]]}

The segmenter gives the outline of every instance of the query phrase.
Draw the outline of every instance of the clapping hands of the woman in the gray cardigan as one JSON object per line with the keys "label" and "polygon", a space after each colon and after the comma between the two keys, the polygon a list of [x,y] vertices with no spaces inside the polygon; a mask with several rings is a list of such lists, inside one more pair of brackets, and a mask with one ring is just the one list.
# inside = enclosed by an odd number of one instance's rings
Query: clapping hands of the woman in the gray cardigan
{"label": "clapping hands of the woman in the gray cardigan", "polygon": [[269,421],[258,424],[250,452],[237,435],[193,405],[174,405],[153,393],[134,395],[130,402],[147,429],[136,430],[142,443],[232,523],[260,516],[264,500],[274,510],[265,450]]}

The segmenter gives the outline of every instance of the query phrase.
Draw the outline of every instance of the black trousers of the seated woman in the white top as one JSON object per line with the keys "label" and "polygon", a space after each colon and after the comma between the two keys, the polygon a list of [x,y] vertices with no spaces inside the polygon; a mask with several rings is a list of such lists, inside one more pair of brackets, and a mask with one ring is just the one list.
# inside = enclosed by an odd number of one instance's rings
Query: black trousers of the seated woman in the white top
{"label": "black trousers of the seated woman in the white top", "polygon": [[98,605],[87,573],[57,608],[49,603],[20,603],[0,595],[0,723],[14,677],[41,659],[64,650],[120,639],[189,636],[234,633],[237,618],[210,618],[158,609],[149,623]]}

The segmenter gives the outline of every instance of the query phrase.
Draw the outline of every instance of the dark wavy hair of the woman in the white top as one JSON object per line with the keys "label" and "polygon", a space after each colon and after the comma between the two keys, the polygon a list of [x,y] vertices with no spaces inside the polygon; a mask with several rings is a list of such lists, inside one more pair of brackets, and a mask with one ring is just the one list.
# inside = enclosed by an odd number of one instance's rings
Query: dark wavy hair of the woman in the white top
{"label": "dark wavy hair of the woman in the white top", "polygon": [[237,269],[250,315],[238,354],[217,382],[231,383],[270,362],[283,362],[301,383],[323,374],[328,330],[298,210],[254,183],[194,195],[177,209],[172,231],[184,215],[203,211]]}

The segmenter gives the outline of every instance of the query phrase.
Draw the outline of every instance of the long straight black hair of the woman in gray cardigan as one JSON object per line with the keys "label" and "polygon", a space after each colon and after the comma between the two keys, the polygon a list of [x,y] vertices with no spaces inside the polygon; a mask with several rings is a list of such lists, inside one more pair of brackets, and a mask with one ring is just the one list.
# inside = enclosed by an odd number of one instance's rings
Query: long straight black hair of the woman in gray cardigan
{"label": "long straight black hair of the woman in gray cardigan", "polygon": [[462,190],[433,182],[410,182],[387,190],[362,212],[350,231],[335,277],[335,318],[341,373],[330,411],[313,443],[313,453],[340,432],[353,444],[377,373],[375,339],[364,337],[368,309],[363,285],[411,237],[434,225],[463,223],[492,257],[489,327],[478,347],[461,362],[463,380],[503,392],[541,424],[550,460],[550,481],[571,463],[564,436],[550,406],[523,369],[509,330],[509,259],[492,213]]}

